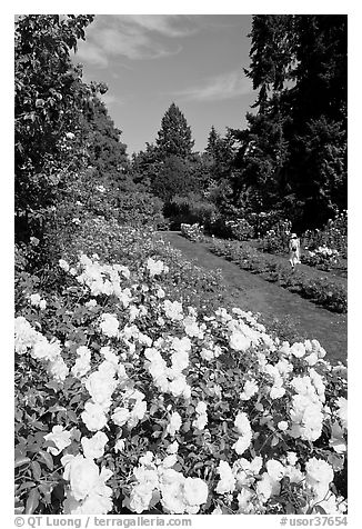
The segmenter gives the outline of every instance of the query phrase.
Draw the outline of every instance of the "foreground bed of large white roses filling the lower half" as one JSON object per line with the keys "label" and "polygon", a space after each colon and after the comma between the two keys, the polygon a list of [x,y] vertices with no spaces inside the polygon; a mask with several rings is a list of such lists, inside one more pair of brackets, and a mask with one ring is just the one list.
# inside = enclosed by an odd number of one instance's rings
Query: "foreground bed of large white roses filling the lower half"
{"label": "foreground bed of large white roses filling the lower half", "polygon": [[18,300],[17,512],[345,511],[345,369],[318,341],[168,299],[161,260],[57,273]]}

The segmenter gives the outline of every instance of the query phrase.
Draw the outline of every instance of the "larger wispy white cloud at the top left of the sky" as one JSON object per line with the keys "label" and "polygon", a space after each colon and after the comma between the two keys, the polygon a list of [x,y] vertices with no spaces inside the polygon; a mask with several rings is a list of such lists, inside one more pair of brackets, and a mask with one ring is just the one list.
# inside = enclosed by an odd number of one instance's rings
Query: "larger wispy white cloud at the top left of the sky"
{"label": "larger wispy white cloud at the top left of the sky", "polygon": [[181,51],[181,46],[171,40],[193,31],[195,26],[185,16],[98,16],[87,31],[87,41],[80,42],[77,56],[100,68],[105,68],[112,57],[158,59]]}

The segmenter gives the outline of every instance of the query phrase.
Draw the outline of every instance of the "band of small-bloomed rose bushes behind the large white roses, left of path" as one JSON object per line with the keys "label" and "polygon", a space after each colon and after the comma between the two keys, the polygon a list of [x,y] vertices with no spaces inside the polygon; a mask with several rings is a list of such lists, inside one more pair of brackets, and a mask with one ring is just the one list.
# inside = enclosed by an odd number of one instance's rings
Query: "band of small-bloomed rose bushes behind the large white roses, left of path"
{"label": "band of small-bloomed rose bushes behind the large white roses, left of path", "polygon": [[[137,267],[149,257],[162,259],[170,268],[163,288],[171,297],[181,298],[183,302],[203,307],[218,308],[224,293],[224,287],[218,270],[204,270],[187,261],[182,253],[164,242],[152,229],[120,226],[115,220],[84,217],[82,223],[67,234],[60,230],[54,239],[57,251],[53,251],[53,264],[43,273],[42,283],[46,290],[57,286],[58,276],[53,269],[60,257],[76,260],[80,253],[98,254],[100,259],[113,263],[122,262]],[[49,244],[50,247],[50,244]],[[31,260],[33,260],[33,257]],[[49,285],[50,283],[50,285]],[[202,292],[202,296],[200,296]]]}

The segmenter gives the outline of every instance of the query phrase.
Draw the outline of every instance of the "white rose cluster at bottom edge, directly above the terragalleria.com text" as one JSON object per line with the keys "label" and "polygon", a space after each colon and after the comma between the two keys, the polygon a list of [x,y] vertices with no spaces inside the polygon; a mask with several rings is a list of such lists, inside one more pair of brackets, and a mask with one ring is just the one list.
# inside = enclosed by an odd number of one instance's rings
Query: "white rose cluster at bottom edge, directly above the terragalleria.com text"
{"label": "white rose cluster at bottom edge, directly above the terragalleria.com text", "polygon": [[132,512],[143,512],[159,501],[164,512],[170,515],[197,515],[207,502],[208,485],[200,478],[185,478],[172,467],[177,456],[167,456],[163,460],[147,452],[133,469],[134,483],[129,498],[123,501]]}

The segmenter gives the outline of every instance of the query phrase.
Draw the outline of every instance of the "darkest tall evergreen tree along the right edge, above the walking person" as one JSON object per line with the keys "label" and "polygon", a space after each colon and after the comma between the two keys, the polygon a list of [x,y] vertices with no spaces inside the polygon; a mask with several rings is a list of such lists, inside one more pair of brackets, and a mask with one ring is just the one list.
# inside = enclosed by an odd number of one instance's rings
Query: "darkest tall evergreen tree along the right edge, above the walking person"
{"label": "darkest tall evergreen tree along the right edge, above the walking person", "polygon": [[346,207],[346,16],[299,16],[290,179],[303,220]]}

